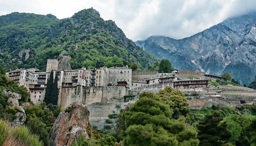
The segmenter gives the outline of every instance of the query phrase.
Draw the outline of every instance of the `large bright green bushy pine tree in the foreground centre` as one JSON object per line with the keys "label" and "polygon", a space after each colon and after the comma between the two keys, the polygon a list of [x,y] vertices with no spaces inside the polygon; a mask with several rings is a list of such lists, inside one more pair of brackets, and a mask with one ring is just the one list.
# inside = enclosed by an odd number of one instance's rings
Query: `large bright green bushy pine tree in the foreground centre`
{"label": "large bright green bushy pine tree in the foreground centre", "polygon": [[158,96],[144,92],[122,114],[127,128],[124,145],[198,145],[196,131],[186,128],[184,117],[171,119],[172,113]]}

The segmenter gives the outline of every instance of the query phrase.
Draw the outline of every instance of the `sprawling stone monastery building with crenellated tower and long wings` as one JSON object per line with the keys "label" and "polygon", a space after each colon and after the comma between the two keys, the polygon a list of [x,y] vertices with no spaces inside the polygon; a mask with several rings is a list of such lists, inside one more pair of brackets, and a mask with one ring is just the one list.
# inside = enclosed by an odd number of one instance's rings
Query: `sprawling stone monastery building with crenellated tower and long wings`
{"label": "sprawling stone monastery building with crenellated tower and long wings", "polygon": [[[217,76],[204,75],[199,71],[173,71],[158,73],[157,71],[132,72],[128,66],[100,67],[86,69],[60,69],[57,59],[48,59],[46,72],[37,68],[16,69],[6,72],[6,76],[18,85],[25,86],[30,92],[31,101],[35,104],[43,102],[47,79],[53,70],[58,76],[58,105],[67,107],[75,101],[86,104],[95,102],[123,102],[129,91],[146,91],[147,87],[164,84],[174,88],[205,88],[208,79],[219,79]],[[189,74],[200,79],[187,80]],[[201,79],[203,77],[203,79]],[[186,79],[186,80],[184,80]]]}

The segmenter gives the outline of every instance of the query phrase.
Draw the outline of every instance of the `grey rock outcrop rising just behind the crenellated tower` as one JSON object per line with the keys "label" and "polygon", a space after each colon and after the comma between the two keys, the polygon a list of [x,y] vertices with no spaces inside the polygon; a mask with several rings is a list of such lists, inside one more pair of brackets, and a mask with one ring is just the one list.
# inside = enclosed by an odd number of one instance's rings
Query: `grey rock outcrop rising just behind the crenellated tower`
{"label": "grey rock outcrop rising just behind the crenellated tower", "polygon": [[58,56],[58,69],[71,69],[69,59],[71,59],[71,57],[68,55],[68,52],[62,51]]}

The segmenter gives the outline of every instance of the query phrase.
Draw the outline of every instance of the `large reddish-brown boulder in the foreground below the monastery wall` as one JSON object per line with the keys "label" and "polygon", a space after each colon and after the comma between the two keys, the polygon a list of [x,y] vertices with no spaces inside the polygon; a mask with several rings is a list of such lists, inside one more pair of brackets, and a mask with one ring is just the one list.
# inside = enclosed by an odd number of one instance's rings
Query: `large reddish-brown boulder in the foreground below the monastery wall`
{"label": "large reddish-brown boulder in the foreground below the monastery wall", "polygon": [[50,146],[69,146],[80,135],[89,138],[86,132],[89,114],[89,110],[82,101],[75,102],[60,112],[50,130]]}

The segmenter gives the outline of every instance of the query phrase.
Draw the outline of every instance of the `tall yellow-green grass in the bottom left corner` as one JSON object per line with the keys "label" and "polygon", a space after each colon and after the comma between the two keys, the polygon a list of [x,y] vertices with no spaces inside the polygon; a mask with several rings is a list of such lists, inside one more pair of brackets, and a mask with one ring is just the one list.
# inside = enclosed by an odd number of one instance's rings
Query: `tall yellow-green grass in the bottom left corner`
{"label": "tall yellow-green grass in the bottom left corner", "polygon": [[4,146],[43,146],[37,135],[25,126],[12,127],[8,121],[0,119],[0,145]]}

